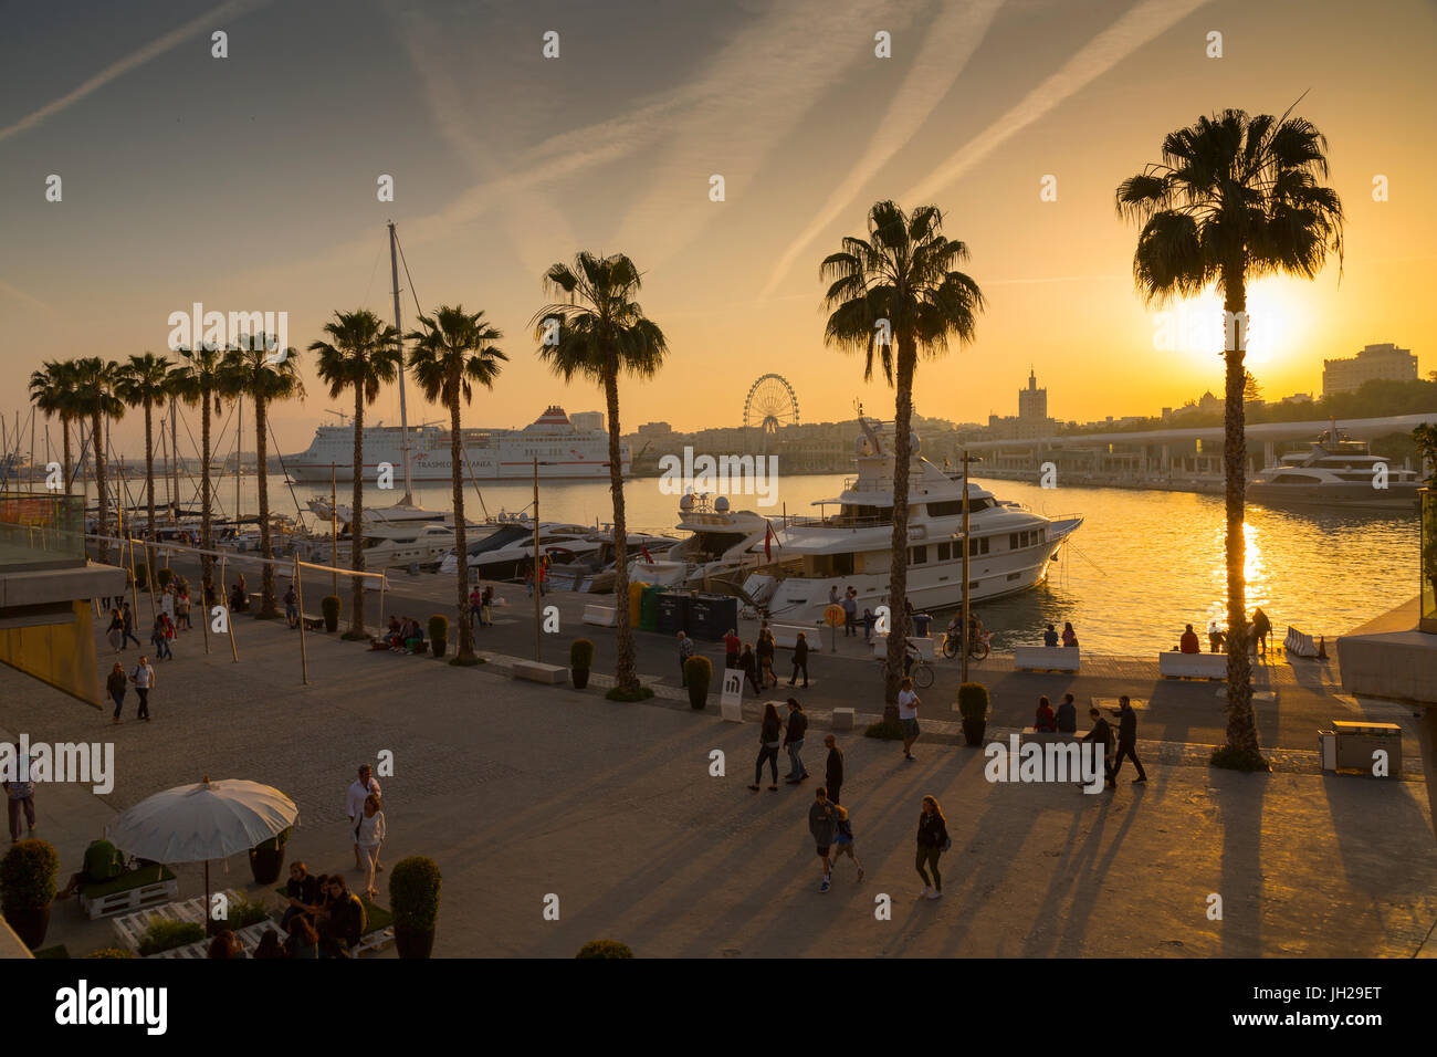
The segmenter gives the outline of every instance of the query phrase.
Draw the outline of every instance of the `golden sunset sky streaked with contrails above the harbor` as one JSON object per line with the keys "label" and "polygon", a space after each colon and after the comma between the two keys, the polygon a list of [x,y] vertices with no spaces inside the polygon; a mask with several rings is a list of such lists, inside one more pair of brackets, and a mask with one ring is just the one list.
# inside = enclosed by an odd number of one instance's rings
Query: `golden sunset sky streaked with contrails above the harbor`
{"label": "golden sunset sky streaked with contrails above the harbor", "polygon": [[[1323,357],[1369,342],[1437,368],[1430,1],[57,0],[0,20],[7,421],[42,360],[164,351],[193,302],[286,311],[300,349],[335,309],[391,318],[389,219],[427,309],[483,308],[506,334],[512,362],[468,424],[602,407],[552,378],[526,326],[543,269],[581,247],[644,269],[673,349],[624,387],[625,431],[737,424],[766,371],[806,421],[855,398],[891,414],[861,361],[823,347],[818,276],[887,197],[944,210],[989,302],[974,345],[920,368],[923,414],[1015,414],[1029,365],[1055,417],[1155,413],[1219,391],[1221,362],[1154,348],[1114,188],[1201,114],[1280,114],[1303,92],[1348,211],[1345,269],[1250,290],[1252,370],[1275,398],[1319,391]],[[376,201],[381,174],[394,203]],[[1058,200],[1040,201],[1049,174]],[[402,311],[410,328],[408,292]],[[274,411],[286,449],[346,406],[302,362],[309,398]],[[374,416],[397,408],[388,391]],[[138,418],[116,427],[124,452]]]}

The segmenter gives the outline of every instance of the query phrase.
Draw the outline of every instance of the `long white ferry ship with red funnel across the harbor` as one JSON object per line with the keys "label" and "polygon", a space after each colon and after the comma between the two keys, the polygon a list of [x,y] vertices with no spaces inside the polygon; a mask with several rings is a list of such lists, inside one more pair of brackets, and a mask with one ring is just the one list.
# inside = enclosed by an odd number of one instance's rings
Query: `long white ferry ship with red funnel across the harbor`
{"label": "long white ferry ship with red funnel across the harbor", "polygon": [[[354,427],[339,413],[339,423],[315,430],[309,447],[285,459],[285,469],[299,483],[328,482],[331,466],[335,480],[354,480]],[[411,426],[410,477],[415,482],[448,482],[450,431],[435,424]],[[532,480],[535,460],[545,480],[608,480],[609,436],[604,430],[581,430],[559,406],[550,406],[522,430],[466,429],[460,431],[466,480]],[[619,446],[624,476],[629,476],[629,447]],[[366,482],[378,480],[379,465],[394,469],[395,480],[404,479],[404,427],[376,423],[364,427],[364,469]]]}

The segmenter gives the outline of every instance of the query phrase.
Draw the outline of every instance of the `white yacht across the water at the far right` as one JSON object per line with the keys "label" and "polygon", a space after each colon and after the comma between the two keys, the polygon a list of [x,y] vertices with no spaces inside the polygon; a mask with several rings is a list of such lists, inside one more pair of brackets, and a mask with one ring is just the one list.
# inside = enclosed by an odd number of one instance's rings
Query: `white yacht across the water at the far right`
{"label": "white yacht across the water at the far right", "polygon": [[1247,499],[1276,506],[1405,511],[1415,509],[1420,486],[1415,470],[1388,465],[1334,423],[1306,452],[1289,452],[1247,482]]}

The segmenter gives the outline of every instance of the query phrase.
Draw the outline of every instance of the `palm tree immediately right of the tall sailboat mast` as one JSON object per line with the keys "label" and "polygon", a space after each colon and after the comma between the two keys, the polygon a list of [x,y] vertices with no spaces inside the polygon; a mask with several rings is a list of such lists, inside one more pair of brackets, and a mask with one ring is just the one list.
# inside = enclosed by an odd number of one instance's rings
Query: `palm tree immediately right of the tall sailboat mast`
{"label": "palm tree immediately right of the tall sailboat mast", "polygon": [[410,372],[430,403],[440,400],[450,413],[450,477],[454,485],[454,554],[458,557],[458,653],[456,664],[473,664],[474,627],[468,613],[468,544],[464,538],[464,459],[458,404],[468,404],[473,385],[494,388],[494,378],[507,361],[493,344],[500,334],[483,312],[470,315],[463,305],[440,305],[433,316],[420,316],[420,328],[405,339],[412,342]]}

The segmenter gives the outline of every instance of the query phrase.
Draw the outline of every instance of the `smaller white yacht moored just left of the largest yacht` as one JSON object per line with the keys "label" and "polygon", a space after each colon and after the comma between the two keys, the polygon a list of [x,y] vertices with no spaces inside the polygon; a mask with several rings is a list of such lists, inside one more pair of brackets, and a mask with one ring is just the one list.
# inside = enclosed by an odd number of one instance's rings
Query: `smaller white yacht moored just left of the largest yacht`
{"label": "smaller white yacht moored just left of the largest yacht", "polygon": [[[664,557],[639,558],[629,565],[629,582],[730,591],[763,564],[769,519],[753,511],[733,511],[724,496],[685,493],[678,500],[678,528],[691,534]],[[754,544],[759,554],[753,552]]]}

